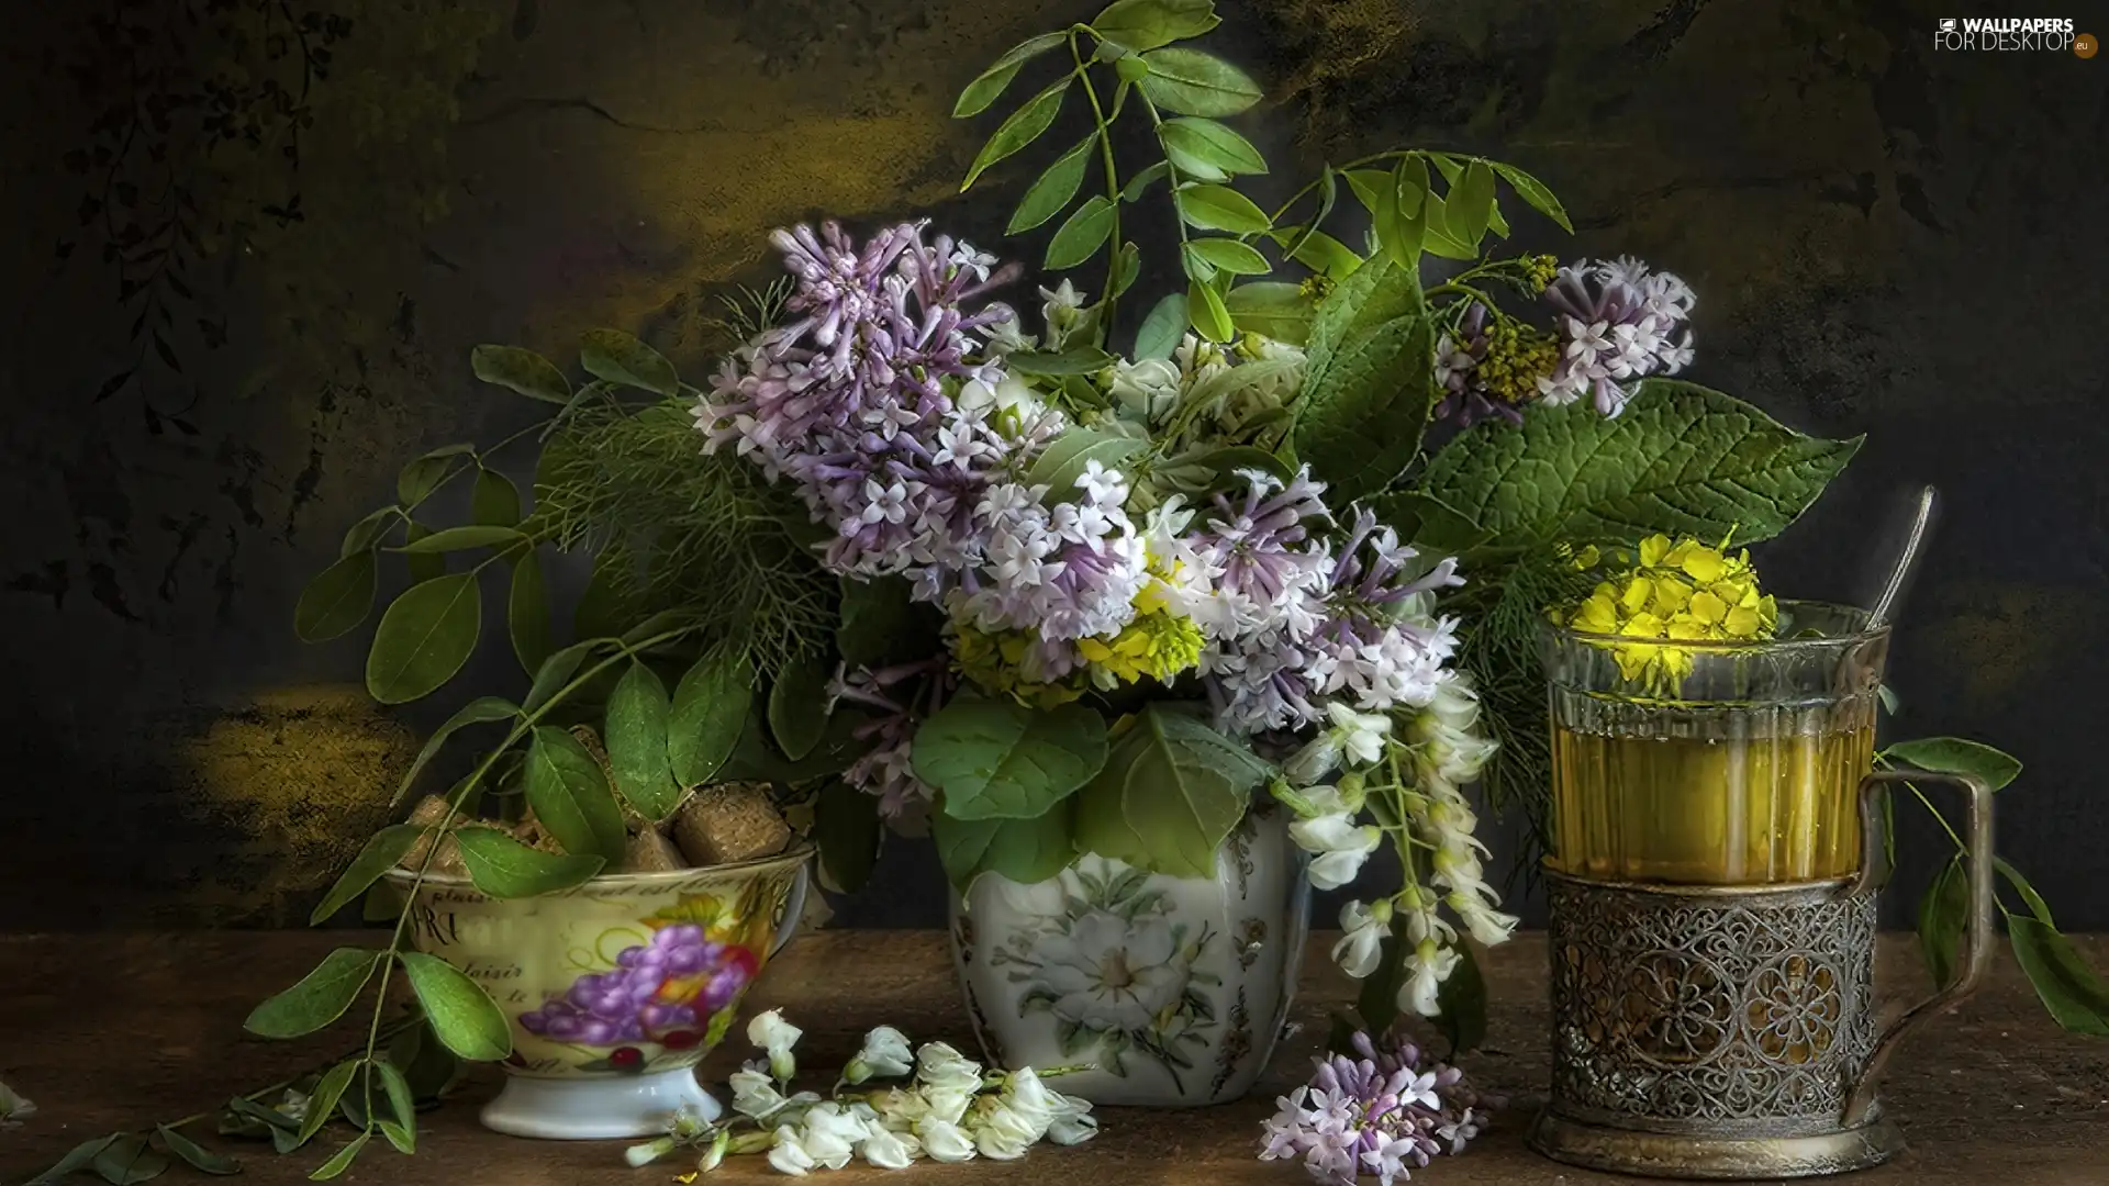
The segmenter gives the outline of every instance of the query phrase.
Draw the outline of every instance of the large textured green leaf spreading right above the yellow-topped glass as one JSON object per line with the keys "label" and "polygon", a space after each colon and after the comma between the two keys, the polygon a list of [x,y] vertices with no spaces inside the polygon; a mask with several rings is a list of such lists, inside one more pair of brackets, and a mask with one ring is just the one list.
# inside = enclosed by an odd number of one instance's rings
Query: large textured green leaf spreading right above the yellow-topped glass
{"label": "large textured green leaf spreading right above the yellow-topped glass", "polygon": [[1656,532],[1738,544],[1793,523],[1860,447],[1780,426],[1748,403],[1645,380],[1618,420],[1537,407],[1523,426],[1464,433],[1421,485],[1491,532],[1489,544],[1637,540]]}

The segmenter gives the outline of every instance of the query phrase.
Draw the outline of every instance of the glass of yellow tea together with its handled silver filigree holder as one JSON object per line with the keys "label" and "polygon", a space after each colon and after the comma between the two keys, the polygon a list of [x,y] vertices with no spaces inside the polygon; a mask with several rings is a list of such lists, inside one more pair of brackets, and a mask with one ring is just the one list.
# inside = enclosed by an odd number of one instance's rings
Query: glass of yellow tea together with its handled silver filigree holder
{"label": "glass of yellow tea together with its handled silver filigree holder", "polygon": [[1904,779],[1869,770],[1888,637],[1839,631],[1854,610],[1793,610],[1833,631],[1700,652],[1675,701],[1620,692],[1630,652],[1620,669],[1588,637],[1548,635],[1565,844],[1548,861],[1552,1093],[1529,1142],[1554,1161],[1666,1178],[1879,1165],[1902,1148],[1883,1064],[1982,977],[1991,789],[1911,772],[1970,800],[1970,926],[1953,981],[1877,1019],[1883,800]]}

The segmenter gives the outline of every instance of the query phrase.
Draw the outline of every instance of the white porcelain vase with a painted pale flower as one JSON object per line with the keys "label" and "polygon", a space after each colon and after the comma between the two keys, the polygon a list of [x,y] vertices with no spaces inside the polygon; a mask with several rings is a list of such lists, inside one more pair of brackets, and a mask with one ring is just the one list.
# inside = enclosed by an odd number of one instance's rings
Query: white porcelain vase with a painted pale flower
{"label": "white porcelain vase with a painted pale flower", "polygon": [[1303,853],[1274,804],[1217,848],[1215,878],[1086,855],[1061,876],[953,895],[951,950],[989,1061],[1095,1064],[1061,1089],[1179,1108],[1242,1097],[1274,1053],[1310,929]]}

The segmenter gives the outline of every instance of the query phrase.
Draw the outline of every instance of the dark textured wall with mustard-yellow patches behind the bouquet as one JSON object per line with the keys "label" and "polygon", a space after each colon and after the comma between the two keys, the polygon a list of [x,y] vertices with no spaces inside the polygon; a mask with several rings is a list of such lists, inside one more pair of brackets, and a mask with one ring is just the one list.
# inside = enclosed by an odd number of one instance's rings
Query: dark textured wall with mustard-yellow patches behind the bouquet
{"label": "dark textured wall with mustard-yellow patches behind the bouquet", "polygon": [[[468,346],[569,357],[578,329],[624,325],[694,374],[713,293],[766,279],[770,226],[928,213],[995,243],[1002,203],[953,196],[979,137],[951,95],[1095,6],[21,8],[0,108],[0,929],[302,918],[432,720],[367,707],[359,639],[299,646],[291,604],[401,460],[531,416],[470,380]],[[1940,485],[1900,730],[2025,758],[2001,848],[2065,926],[2109,926],[2109,61],[1936,53],[1955,13],[1881,0],[1225,15],[1219,49],[1270,84],[1278,171],[1392,144],[1514,160],[1578,224],[1533,247],[1632,251],[1698,287],[1696,378],[1871,435],[1765,551],[1776,589],[1862,595],[1896,494]],[[2058,15],[2109,34],[2101,4]],[[183,95],[224,99],[224,135],[190,135]],[[466,680],[510,677],[498,658]],[[1907,846],[1930,840],[1907,823]],[[894,844],[841,914],[939,910],[928,848]]]}

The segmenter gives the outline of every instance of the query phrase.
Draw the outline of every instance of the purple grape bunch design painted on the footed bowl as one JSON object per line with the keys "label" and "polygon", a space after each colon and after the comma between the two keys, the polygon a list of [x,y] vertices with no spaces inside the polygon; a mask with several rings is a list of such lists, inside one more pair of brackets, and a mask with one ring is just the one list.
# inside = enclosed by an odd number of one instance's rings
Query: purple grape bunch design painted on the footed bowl
{"label": "purple grape bunch design painted on the footed bowl", "polygon": [[740,998],[757,967],[751,950],[677,922],[660,926],[647,943],[624,948],[614,969],[574,979],[563,996],[521,1013],[519,1021],[557,1042],[658,1042],[681,1051],[702,1040],[704,1026]]}

